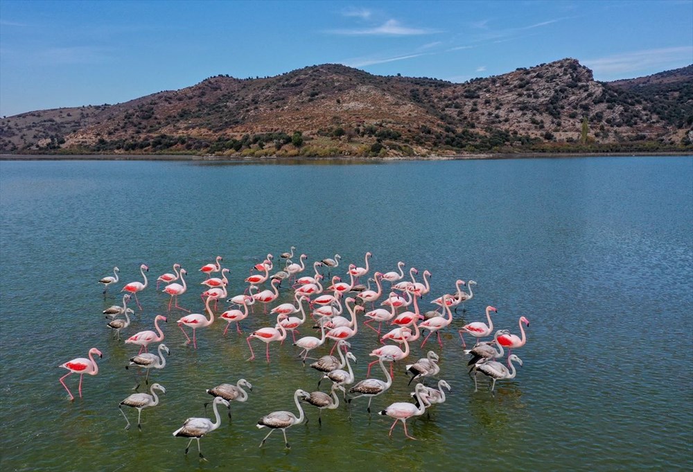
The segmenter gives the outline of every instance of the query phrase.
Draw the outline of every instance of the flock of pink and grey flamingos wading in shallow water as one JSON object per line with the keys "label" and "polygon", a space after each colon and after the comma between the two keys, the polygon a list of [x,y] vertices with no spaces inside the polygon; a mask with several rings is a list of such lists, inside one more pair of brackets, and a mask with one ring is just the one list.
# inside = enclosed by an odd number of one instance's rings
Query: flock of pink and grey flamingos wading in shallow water
{"label": "flock of pink and grey flamingos wading in shallow water", "polygon": [[[270,275],[270,271],[274,270],[274,258],[272,254],[267,254],[264,261],[250,268],[249,277],[245,279],[247,284],[245,290],[235,296],[229,296],[227,291],[229,280],[226,274],[230,270],[222,268],[223,259],[221,256],[216,257],[214,263],[203,265],[199,271],[206,277],[201,282],[206,289],[200,296],[204,300],[205,313],[190,313],[187,308],[179,306],[178,297],[188,290],[187,271],[180,264],[175,263],[173,272],[161,274],[156,281],[157,290],[161,290],[160,284],[163,284],[164,288],[161,291],[170,295],[169,314],[168,316],[156,315],[153,331],[140,331],[125,339],[125,344],[139,346],[139,352],[130,358],[130,363],[126,368],[146,369],[145,382],[148,383],[151,369],[164,369],[166,367],[164,353],[168,355],[169,349],[162,342],[164,331],[159,326],[159,322],[167,322],[172,310],[187,313],[175,322],[183,332],[186,344],[192,344],[192,348],[197,349],[198,329],[209,328],[218,317],[227,322],[223,335],[227,335],[229,326],[233,322],[236,323],[236,331],[240,335],[243,333],[240,324],[249,316],[254,315],[256,304],[261,304],[263,319],[270,317],[271,320],[276,316],[276,322],[257,329],[246,337],[250,353],[247,360],[255,359],[252,341],[259,340],[265,343],[265,358],[267,362],[270,362],[270,344],[273,342],[283,344],[283,341],[288,338],[289,332],[291,333],[292,344],[300,349],[297,351],[297,358],[303,362],[304,366],[310,353],[325,346],[328,340],[334,342],[329,353],[325,353],[324,356],[317,359],[310,358],[315,360],[315,362],[310,363],[310,367],[320,373],[318,388],[322,381],[331,381],[328,392],[296,390],[293,399],[298,414],[275,411],[261,417],[257,422],[258,428],[269,429],[260,446],[263,446],[274,430],[279,429],[283,432],[286,448],[289,448],[286,429],[306,420],[304,404],[319,409],[318,421],[321,425],[322,410],[339,408],[340,396],[349,408],[349,418],[351,418],[351,402],[362,397],[368,399],[367,412],[370,414],[371,401],[387,392],[392,386],[394,362],[407,359],[410,356],[412,343],[420,338],[423,338],[421,341],[421,349],[423,349],[434,333],[439,346],[442,347],[440,332],[447,329],[453,322],[453,309],[457,312],[457,309],[462,307],[463,312],[466,311],[465,302],[473,298],[472,286],[476,282],[465,282],[459,279],[455,283],[454,292],[441,295],[430,301],[437,307],[435,310],[423,311],[419,307],[419,303],[430,292],[428,278],[431,274],[428,270],[424,270],[423,277],[417,281],[416,275],[419,274],[419,271],[412,267],[409,269],[409,279],[407,279],[404,272],[405,263],[399,262],[397,269],[391,272],[374,271],[372,277],[367,279],[367,284],[364,284],[360,281],[371,273],[369,259],[372,254],[367,252],[363,266],[352,263],[342,275],[331,274],[343,266],[340,265],[341,257],[339,254],[335,254],[333,258],[315,261],[313,272],[303,275],[306,270],[307,256],[301,254],[298,259],[299,263],[293,262],[295,249],[295,247],[291,247],[290,252],[281,254],[281,258],[284,260],[283,267],[272,275]],[[328,272],[327,276],[324,274],[325,270]],[[148,271],[148,266],[142,264],[140,266],[142,281],[125,284],[121,290],[121,292],[125,292],[122,304],[111,306],[103,311],[106,317],[111,319],[107,326],[113,330],[114,338],[120,339],[121,331],[127,330],[130,326],[130,315],[134,314],[134,310],[128,308],[128,302],[134,298],[135,304],[142,310],[137,294],[148,288]],[[212,277],[214,274],[218,274],[220,277]],[[325,280],[328,283],[324,283]],[[115,267],[112,276],[100,279],[100,283],[103,283],[104,286],[103,294],[106,295],[109,286],[118,282],[119,268]],[[371,287],[371,282],[374,283],[374,287]],[[279,288],[282,283],[290,285],[293,302],[275,305],[274,302],[279,299]],[[389,291],[385,290],[385,283],[389,284]],[[261,290],[263,285],[269,286],[269,288]],[[466,291],[464,286],[466,286]],[[231,307],[216,315],[219,300],[227,301]],[[379,303],[376,304],[378,301]],[[477,375],[481,374],[490,378],[490,390],[493,393],[496,381],[509,380],[516,376],[515,363],[520,366],[523,365],[522,360],[512,351],[525,345],[525,325],[529,326],[529,320],[524,316],[520,317],[520,336],[511,334],[507,329],[501,329],[494,333],[493,316],[497,312],[493,306],[487,306],[485,321],[471,322],[459,329],[464,353],[469,356],[467,368],[469,376],[473,378],[475,383],[475,392],[477,392]],[[377,324],[377,327],[374,324]],[[394,328],[385,333],[383,332],[383,324],[389,324]],[[304,326],[310,326],[319,331],[319,336],[305,335],[297,338],[297,335],[300,334],[299,329]],[[377,339],[381,345],[369,353],[369,356],[374,357],[375,360],[369,363],[366,378],[356,382],[352,365],[352,362],[356,362],[356,356],[350,349],[351,343],[365,338],[362,331],[359,331],[360,326],[367,327],[377,333]],[[191,336],[188,335],[186,329],[191,330]],[[423,333],[426,331],[428,333],[424,337]],[[465,335],[475,339],[475,344],[470,349],[466,349]],[[482,338],[491,335],[493,335],[493,340],[482,341]],[[385,342],[392,344],[385,344]],[[160,343],[157,347],[157,354],[148,353],[148,346],[152,343]],[[333,355],[335,350],[336,356]],[[507,359],[503,362],[502,358],[506,356],[506,350]],[[59,366],[69,371],[60,378],[60,383],[67,390],[71,401],[74,400],[74,396],[64,379],[73,373],[80,374],[78,391],[81,398],[84,374],[98,374],[98,364],[94,356],[102,356],[101,351],[96,347],[89,349],[88,358],[76,358]],[[407,385],[412,382],[416,383],[414,391],[411,393],[414,402],[398,401],[378,412],[378,414],[394,419],[389,429],[389,435],[392,435],[394,427],[398,421],[401,421],[405,437],[416,439],[407,431],[407,419],[419,417],[432,405],[443,403],[446,400],[446,390],[450,391],[450,385],[445,380],[440,379],[433,386],[425,384],[426,379],[439,376],[439,360],[439,355],[430,350],[425,357],[405,365],[405,372],[410,376]],[[376,364],[380,367],[380,372],[385,380],[371,378],[371,367]],[[389,368],[386,364],[389,365]],[[139,383],[137,387],[139,387]],[[340,391],[340,394],[337,394],[337,391]],[[130,428],[130,420],[123,411],[123,406],[138,410],[137,426],[141,430],[141,412],[144,408],[155,407],[159,404],[157,392],[165,394],[166,389],[159,383],[153,383],[149,393],[134,393],[121,401],[119,408],[125,421],[127,421],[126,430]],[[229,408],[230,419],[230,402],[247,401],[248,392],[252,392],[252,385],[243,378],[236,384],[224,383],[207,390],[207,393],[214,397],[209,403],[212,403],[215,420],[212,421],[207,417],[188,418],[181,428],[173,432],[175,437],[190,438],[185,453],[188,453],[193,439],[196,439],[200,459],[204,460],[200,450],[200,438],[220,426],[218,405],[225,405]],[[348,396],[349,394],[351,396]],[[205,409],[209,403],[205,403]]]}

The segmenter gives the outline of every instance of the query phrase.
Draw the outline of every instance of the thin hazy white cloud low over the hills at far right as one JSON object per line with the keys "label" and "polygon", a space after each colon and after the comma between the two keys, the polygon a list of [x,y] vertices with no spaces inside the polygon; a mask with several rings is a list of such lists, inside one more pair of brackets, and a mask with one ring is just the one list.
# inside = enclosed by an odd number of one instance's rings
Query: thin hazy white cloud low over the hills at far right
{"label": "thin hazy white cloud low over the hills at far right", "polygon": [[669,64],[676,62],[690,64],[693,62],[693,46],[644,49],[581,62],[592,69],[595,75],[615,76],[644,69],[668,67]]}

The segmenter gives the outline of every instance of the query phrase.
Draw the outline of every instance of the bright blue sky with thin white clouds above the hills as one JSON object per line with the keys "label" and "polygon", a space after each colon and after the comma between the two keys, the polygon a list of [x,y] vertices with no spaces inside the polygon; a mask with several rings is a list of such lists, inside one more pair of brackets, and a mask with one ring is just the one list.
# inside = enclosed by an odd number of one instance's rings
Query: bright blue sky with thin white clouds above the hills
{"label": "bright blue sky with thin white clouds above the hills", "polygon": [[693,63],[693,0],[0,0],[0,116],[209,76],[340,63],[453,82],[576,58],[597,80]]}

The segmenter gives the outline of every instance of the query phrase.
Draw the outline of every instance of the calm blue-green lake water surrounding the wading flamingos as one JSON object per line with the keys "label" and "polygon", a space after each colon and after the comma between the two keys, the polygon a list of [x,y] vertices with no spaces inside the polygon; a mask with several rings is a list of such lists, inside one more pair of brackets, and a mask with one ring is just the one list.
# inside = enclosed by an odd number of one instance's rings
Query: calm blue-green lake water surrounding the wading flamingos
{"label": "calm blue-green lake water surrounding the wading flamingos", "polygon": [[[344,163],[342,163],[344,164]],[[577,157],[470,161],[397,161],[301,165],[204,161],[1,161],[0,327],[3,471],[243,470],[613,471],[693,468],[693,157]],[[411,401],[405,361],[392,387],[376,397],[324,410],[306,405],[308,423],[287,430],[290,449],[275,431],[256,428],[274,410],[297,413],[293,392],[317,390],[318,372],[304,367],[287,342],[246,336],[274,326],[256,306],[241,322],[244,334],[217,320],[198,330],[198,349],[185,344],[168,311],[170,297],[155,290],[173,263],[188,271],[179,304],[204,313],[198,269],[222,256],[229,297],[268,253],[295,246],[295,262],[342,256],[331,274],[348,281],[347,266],[369,276],[398,261],[429,270],[430,292],[419,302],[474,280],[466,311],[453,313],[424,349],[412,342],[407,360],[439,353],[439,379],[451,390],[445,403],[401,424],[392,436],[378,411]],[[120,304],[121,288],[148,287],[134,303],[123,339],[152,329],[166,315],[170,356],[151,373],[166,387],[155,408],[125,414],[137,372],[126,370],[138,348],[115,340],[101,313]],[[120,281],[102,294],[101,277],[120,268]],[[267,288],[263,284],[262,288]],[[385,294],[389,283],[384,282]],[[381,297],[384,299],[385,297]],[[291,301],[282,283],[276,304]],[[377,302],[379,303],[379,301]],[[270,308],[275,304],[271,304]],[[498,381],[495,396],[467,375],[458,330],[485,321],[518,332],[525,316],[527,344],[517,376]],[[221,303],[216,315],[222,308]],[[363,326],[352,339],[356,381],[366,377],[368,354],[379,345]],[[315,334],[310,320],[300,335]],[[389,329],[390,326],[387,326]],[[189,329],[188,329],[189,333]],[[471,339],[467,338],[470,342]],[[58,366],[98,347],[96,376],[85,376],[83,397],[69,401]],[[318,356],[331,348],[314,351]],[[156,344],[150,346],[155,352]],[[371,376],[383,378],[377,365]],[[139,377],[141,378],[141,376]],[[200,444],[173,437],[188,417],[204,417],[205,390],[246,378],[245,403],[231,403],[232,419]],[[65,379],[77,396],[78,375]],[[430,379],[426,382],[433,385]],[[328,381],[322,391],[328,392]],[[139,390],[146,391],[143,384]],[[207,409],[207,417],[212,417]]]}

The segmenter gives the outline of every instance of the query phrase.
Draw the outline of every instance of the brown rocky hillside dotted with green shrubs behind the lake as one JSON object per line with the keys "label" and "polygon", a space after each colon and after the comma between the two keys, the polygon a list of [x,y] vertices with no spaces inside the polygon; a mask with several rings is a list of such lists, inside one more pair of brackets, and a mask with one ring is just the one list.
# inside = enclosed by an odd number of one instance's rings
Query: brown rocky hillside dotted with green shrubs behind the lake
{"label": "brown rocky hillside dotted with green shrubs behind the lake", "polygon": [[463,84],[337,64],[216,76],[0,121],[0,152],[262,157],[691,149],[693,66],[597,82],[564,59]]}

